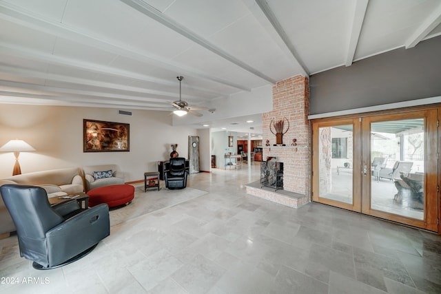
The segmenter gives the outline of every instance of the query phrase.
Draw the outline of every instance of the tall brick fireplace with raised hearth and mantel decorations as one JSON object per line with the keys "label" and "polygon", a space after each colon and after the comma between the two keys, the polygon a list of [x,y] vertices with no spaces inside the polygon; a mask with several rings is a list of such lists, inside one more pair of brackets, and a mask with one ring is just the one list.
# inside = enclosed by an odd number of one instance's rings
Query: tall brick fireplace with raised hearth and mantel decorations
{"label": "tall brick fireplace with raised hearth and mantel decorations", "polygon": [[[309,129],[309,79],[305,76],[293,76],[278,82],[273,87],[273,109],[262,116],[263,142],[269,140],[269,146],[263,146],[263,158],[275,157],[283,162],[283,197],[291,195],[293,199],[275,200],[280,204],[300,207],[310,200],[311,184],[311,133]],[[289,129],[283,135],[283,144],[276,145],[276,135],[269,127],[271,120],[280,121],[286,118]],[[287,122],[284,123],[284,132]],[[272,127],[274,132],[274,127]],[[296,145],[291,145],[293,139]],[[254,196],[273,200],[277,198],[276,191],[265,191],[247,186],[247,193]],[[291,193],[288,193],[291,192]],[[289,203],[285,203],[289,202]]]}

